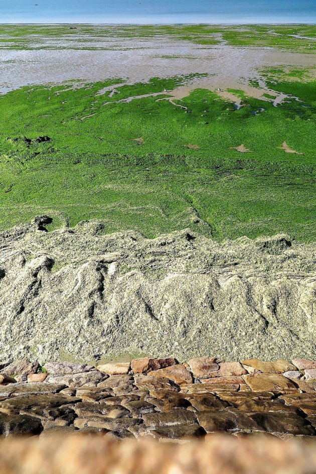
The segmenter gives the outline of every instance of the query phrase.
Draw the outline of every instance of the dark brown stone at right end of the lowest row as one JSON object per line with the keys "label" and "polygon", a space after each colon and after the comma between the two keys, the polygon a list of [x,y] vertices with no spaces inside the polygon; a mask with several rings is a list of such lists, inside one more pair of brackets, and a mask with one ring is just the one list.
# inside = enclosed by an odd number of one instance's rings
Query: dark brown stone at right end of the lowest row
{"label": "dark brown stone at right end of the lowest row", "polygon": [[297,415],[287,413],[269,412],[269,413],[254,413],[249,415],[263,431],[270,433],[284,433],[284,434],[315,434],[314,428],[306,421]]}

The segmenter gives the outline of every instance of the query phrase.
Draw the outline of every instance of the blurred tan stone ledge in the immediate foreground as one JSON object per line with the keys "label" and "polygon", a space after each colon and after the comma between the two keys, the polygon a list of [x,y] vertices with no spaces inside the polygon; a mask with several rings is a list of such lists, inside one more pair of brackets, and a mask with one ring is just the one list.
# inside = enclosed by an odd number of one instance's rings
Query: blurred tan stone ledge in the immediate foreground
{"label": "blurred tan stone ledge in the immediate foreground", "polygon": [[2,474],[311,474],[315,441],[207,435],[206,442],[113,442],[107,435],[50,436],[0,443]]}

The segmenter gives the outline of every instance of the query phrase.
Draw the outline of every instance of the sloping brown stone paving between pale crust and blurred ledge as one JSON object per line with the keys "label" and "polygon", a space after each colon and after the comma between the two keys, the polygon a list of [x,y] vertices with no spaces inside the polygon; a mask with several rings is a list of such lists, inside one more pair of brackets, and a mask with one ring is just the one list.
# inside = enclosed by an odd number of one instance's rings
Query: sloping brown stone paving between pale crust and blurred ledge
{"label": "sloping brown stone paving between pale crust and blurred ledge", "polygon": [[[316,435],[316,362],[134,359],[0,364],[0,433],[184,442],[209,433]],[[316,437],[315,437],[316,439]]]}

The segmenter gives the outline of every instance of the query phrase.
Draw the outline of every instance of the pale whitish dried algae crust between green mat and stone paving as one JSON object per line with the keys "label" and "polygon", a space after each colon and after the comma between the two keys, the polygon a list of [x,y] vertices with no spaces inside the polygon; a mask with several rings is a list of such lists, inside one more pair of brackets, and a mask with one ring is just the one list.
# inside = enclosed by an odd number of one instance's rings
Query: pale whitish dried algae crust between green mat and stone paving
{"label": "pale whitish dried algae crust between green mat and stone paving", "polygon": [[148,240],[96,223],[0,234],[1,360],[315,359],[315,244]]}

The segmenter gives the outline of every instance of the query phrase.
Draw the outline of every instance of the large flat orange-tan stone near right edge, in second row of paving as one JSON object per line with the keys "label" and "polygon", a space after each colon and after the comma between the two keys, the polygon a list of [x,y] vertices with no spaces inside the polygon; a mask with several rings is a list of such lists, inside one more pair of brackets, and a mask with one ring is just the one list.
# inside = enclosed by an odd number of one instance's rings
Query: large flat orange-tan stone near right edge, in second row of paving
{"label": "large flat orange-tan stone near right edge, in second row of paving", "polygon": [[280,374],[249,374],[244,376],[253,392],[286,392],[297,390],[296,385]]}

